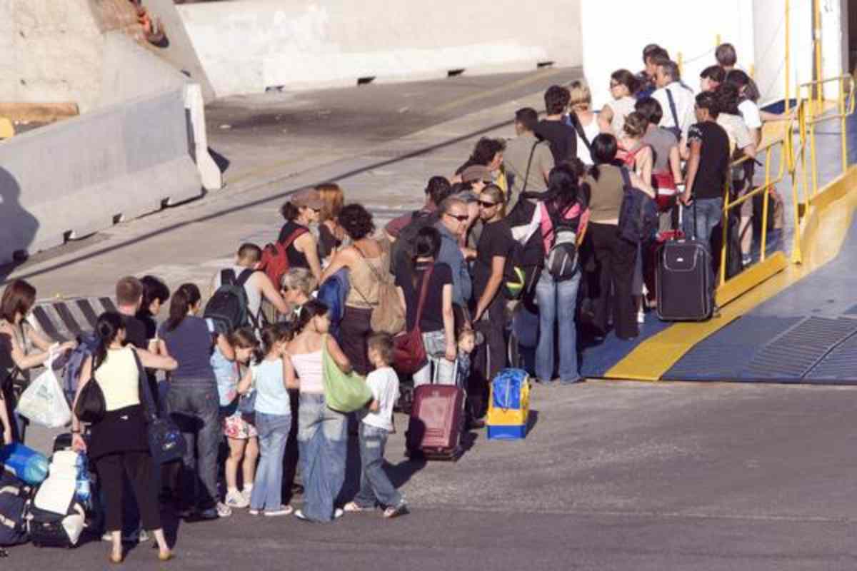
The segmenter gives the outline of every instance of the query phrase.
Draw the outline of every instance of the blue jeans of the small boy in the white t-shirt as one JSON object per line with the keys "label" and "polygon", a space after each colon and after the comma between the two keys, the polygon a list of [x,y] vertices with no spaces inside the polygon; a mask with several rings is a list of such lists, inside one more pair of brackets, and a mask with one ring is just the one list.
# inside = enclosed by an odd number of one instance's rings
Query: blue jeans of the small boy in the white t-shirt
{"label": "blue jeans of the small boy in the white t-shirt", "polygon": [[384,448],[388,435],[383,428],[360,424],[360,491],[354,497],[354,503],[361,508],[375,508],[376,503],[396,507],[404,502],[384,472]]}

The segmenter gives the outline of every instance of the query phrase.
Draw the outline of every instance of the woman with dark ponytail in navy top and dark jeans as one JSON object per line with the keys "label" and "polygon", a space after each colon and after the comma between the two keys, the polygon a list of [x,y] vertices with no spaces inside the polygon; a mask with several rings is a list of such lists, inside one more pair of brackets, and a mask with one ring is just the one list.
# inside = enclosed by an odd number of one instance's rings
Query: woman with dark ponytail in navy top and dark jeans
{"label": "woman with dark ponytail in navy top and dark jeans", "polygon": [[[228,360],[235,359],[235,351],[225,336],[196,316],[201,305],[200,288],[183,283],[170,300],[170,317],[161,325],[159,344],[161,354],[178,361],[166,402],[187,443],[179,511],[187,517],[199,509],[201,519],[213,520],[231,515],[231,509],[219,501],[217,488],[220,399],[211,356],[215,344]],[[202,483],[201,490],[196,489],[197,481]]]}

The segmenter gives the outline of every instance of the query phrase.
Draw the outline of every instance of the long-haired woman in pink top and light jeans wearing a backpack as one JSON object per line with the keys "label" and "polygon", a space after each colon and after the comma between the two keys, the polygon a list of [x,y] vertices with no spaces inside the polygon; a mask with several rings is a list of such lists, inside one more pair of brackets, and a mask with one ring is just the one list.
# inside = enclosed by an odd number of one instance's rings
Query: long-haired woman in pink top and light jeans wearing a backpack
{"label": "long-haired woman in pink top and light jeans wearing a backpack", "polygon": [[[576,227],[577,243],[583,241],[589,211],[587,200],[578,184],[578,173],[561,164],[550,171],[548,190],[538,205],[541,209],[540,230],[542,247],[547,257],[556,239],[556,224]],[[577,330],[574,314],[578,306],[580,269],[571,278],[558,280],[545,267],[536,283],[536,300],[539,310],[539,337],[536,346],[536,378],[550,383],[554,370],[559,369],[560,382],[572,384],[580,380],[578,373]],[[554,354],[559,339],[559,363]]]}

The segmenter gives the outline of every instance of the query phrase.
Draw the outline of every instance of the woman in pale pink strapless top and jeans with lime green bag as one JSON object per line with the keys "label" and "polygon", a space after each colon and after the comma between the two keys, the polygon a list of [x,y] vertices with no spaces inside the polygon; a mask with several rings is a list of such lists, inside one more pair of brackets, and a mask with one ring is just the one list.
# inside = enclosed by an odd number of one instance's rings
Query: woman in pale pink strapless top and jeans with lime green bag
{"label": "woman in pale pink strapless top and jeans with lime green bag", "polygon": [[297,445],[303,476],[303,507],[295,515],[305,521],[331,521],[343,513],[333,503],[345,483],[346,417],[325,402],[323,349],[327,349],[343,372],[351,371],[351,362],[333,336],[327,335],[329,329],[327,306],[309,300],[297,316],[294,329],[297,336],[285,349],[300,379]]}

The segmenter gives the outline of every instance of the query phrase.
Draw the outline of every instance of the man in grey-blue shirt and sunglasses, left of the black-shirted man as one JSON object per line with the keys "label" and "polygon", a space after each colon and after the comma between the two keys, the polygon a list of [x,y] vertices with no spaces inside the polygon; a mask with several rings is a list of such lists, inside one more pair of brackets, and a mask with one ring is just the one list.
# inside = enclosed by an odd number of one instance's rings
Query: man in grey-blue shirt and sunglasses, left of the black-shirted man
{"label": "man in grey-blue shirt and sunglasses, left of the black-shirted man", "polygon": [[440,231],[440,253],[436,261],[452,269],[452,305],[456,310],[456,320],[463,319],[466,323],[470,323],[466,307],[473,285],[470,282],[470,268],[458,241],[464,235],[469,220],[467,203],[452,197],[440,204],[440,220],[434,224],[434,228]]}

